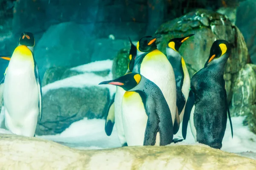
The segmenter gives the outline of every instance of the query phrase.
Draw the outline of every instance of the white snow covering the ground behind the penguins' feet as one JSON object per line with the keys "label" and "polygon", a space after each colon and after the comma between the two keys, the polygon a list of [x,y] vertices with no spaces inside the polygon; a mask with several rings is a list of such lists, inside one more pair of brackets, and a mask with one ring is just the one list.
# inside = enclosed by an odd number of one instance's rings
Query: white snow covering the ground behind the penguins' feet
{"label": "white snow covering the ground behind the penguins' feet", "polygon": [[[221,150],[232,153],[241,153],[247,151],[256,153],[256,135],[250,132],[247,126],[242,125],[243,120],[244,116],[232,117],[234,132],[233,139],[231,137],[229,121],[227,122],[227,128]],[[87,118],[84,118],[78,122],[74,122],[61,134],[37,137],[59,142],[77,149],[106,149],[121,147],[115,126],[111,136],[106,135],[104,128],[104,119],[88,120]],[[181,129],[174,136],[174,138],[183,139]],[[196,144],[192,136],[190,126],[188,126],[186,140],[178,142],[177,144]]]}

